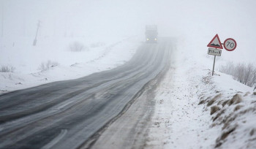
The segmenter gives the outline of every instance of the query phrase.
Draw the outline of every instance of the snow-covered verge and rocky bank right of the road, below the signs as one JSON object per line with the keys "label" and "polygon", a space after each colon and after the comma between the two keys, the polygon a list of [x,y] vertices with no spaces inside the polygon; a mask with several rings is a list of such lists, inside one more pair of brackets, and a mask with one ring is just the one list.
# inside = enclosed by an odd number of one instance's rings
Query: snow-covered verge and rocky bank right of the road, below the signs
{"label": "snow-covered verge and rocky bank right of the road, below the signs", "polygon": [[157,89],[146,148],[256,148],[253,88],[218,71],[211,76],[207,47],[178,44]]}

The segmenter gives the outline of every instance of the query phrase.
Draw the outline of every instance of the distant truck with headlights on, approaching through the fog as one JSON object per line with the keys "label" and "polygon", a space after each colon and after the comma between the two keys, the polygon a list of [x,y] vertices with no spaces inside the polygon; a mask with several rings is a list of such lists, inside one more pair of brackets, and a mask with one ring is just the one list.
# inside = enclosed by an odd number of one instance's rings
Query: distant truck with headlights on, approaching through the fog
{"label": "distant truck with headlights on, approaching through the fog", "polygon": [[157,43],[157,26],[146,26],[146,42]]}

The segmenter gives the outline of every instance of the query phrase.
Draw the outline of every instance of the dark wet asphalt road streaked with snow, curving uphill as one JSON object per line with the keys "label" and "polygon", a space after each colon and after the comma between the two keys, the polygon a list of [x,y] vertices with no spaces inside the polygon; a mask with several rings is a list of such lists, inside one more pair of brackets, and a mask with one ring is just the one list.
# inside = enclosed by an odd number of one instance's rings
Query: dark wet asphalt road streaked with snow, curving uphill
{"label": "dark wet asphalt road streaked with snow, curving uphill", "polygon": [[162,39],[116,69],[1,95],[0,148],[83,147],[158,79],[171,50]]}

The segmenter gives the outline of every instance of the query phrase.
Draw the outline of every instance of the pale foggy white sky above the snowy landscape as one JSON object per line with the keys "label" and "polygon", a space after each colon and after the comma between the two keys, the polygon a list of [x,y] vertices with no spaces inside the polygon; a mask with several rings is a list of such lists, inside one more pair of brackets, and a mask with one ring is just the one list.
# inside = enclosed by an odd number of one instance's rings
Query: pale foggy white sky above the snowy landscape
{"label": "pale foggy white sky above the snowy landscape", "polygon": [[254,0],[0,1],[5,38],[34,37],[38,20],[39,37],[94,39],[144,35],[145,25],[155,24],[159,36],[184,37],[206,47],[219,34],[222,41],[232,37],[238,49],[256,55]]}

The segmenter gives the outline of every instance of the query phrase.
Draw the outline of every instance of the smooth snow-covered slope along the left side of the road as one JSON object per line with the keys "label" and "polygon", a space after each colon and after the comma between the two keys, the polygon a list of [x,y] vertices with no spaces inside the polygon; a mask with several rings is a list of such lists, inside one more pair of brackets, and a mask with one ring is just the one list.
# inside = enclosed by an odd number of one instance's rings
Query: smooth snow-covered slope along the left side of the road
{"label": "smooth snow-covered slope along the left side of the road", "polygon": [[41,39],[35,47],[28,39],[10,41],[5,39],[0,44],[0,66],[14,67],[15,70],[0,72],[0,93],[113,69],[129,61],[140,44],[137,37],[116,39],[108,44],[89,42],[90,45],[84,45],[80,42],[83,49],[74,51],[71,45],[75,42],[70,39]]}

